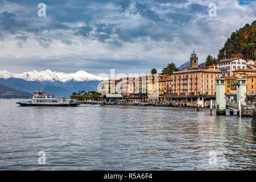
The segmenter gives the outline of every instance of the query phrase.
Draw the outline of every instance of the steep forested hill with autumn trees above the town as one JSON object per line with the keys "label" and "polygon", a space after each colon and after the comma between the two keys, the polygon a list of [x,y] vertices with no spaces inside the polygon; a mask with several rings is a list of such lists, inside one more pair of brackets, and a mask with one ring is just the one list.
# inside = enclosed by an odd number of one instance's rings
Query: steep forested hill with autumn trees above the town
{"label": "steep forested hill with autumn trees above the town", "polygon": [[256,57],[256,20],[250,24],[246,24],[236,32],[233,32],[226,40],[224,47],[218,53],[218,60],[232,58],[241,55],[245,59],[253,59]]}

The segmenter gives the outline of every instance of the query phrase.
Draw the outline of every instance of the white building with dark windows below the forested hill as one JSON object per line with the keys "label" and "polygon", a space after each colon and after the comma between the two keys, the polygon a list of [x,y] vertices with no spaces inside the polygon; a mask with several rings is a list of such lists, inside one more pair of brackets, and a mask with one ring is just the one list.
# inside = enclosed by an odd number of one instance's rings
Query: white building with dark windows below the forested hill
{"label": "white building with dark windows below the forested hill", "polygon": [[236,69],[246,69],[246,60],[242,58],[224,59],[218,62],[218,70],[222,76],[233,76],[233,71]]}

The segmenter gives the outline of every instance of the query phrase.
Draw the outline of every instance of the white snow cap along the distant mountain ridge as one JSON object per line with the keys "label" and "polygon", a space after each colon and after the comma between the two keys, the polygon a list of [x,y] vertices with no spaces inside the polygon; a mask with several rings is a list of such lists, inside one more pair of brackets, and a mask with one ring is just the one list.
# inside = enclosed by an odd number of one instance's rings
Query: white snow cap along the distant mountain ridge
{"label": "white snow cap along the distant mountain ridge", "polygon": [[101,81],[108,80],[109,78],[102,78],[96,75],[92,75],[85,71],[78,71],[76,73],[63,73],[63,72],[53,72],[49,69],[46,71],[31,71],[23,73],[10,73],[4,69],[0,69],[0,78],[22,78],[27,81]]}

